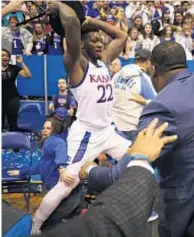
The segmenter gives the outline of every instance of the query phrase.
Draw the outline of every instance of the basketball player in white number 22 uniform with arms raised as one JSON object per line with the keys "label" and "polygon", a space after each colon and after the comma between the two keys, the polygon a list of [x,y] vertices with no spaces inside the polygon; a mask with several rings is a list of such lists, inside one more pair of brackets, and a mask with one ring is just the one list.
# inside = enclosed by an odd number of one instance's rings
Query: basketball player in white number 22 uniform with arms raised
{"label": "basketball player in white number 22 uniform with arms raised", "polygon": [[[65,66],[70,89],[78,102],[77,120],[68,136],[69,165],[59,167],[63,180],[60,183],[62,201],[79,183],[78,173],[86,160],[93,161],[101,152],[119,160],[131,145],[111,125],[113,82],[106,66],[119,56],[127,35],[107,23],[90,18],[84,22],[81,34],[81,25],[74,10],[60,2],[52,2],[50,9],[52,13],[58,13],[65,30]],[[99,30],[113,38],[106,50],[103,49]],[[75,177],[72,183],[68,182],[69,175]],[[59,194],[54,190],[47,193],[35,214],[33,233],[40,229],[60,203]]]}

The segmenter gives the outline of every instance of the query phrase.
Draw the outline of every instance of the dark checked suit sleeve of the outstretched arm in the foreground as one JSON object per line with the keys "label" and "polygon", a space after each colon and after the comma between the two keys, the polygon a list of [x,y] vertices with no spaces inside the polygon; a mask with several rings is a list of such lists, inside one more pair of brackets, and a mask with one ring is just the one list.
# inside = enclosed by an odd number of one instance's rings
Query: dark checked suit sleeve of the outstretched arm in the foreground
{"label": "dark checked suit sleeve of the outstretched arm in the foreground", "polygon": [[41,236],[145,237],[156,189],[149,170],[130,167],[99,195],[84,216],[60,224]]}

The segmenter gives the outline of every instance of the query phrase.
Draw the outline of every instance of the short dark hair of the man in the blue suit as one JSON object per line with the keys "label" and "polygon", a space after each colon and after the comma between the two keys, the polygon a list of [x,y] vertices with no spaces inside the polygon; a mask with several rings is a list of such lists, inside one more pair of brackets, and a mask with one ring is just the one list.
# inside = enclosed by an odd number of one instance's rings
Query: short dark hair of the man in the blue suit
{"label": "short dark hair of the man in the blue suit", "polygon": [[187,68],[184,48],[172,41],[165,41],[158,44],[152,51],[151,62],[158,74]]}

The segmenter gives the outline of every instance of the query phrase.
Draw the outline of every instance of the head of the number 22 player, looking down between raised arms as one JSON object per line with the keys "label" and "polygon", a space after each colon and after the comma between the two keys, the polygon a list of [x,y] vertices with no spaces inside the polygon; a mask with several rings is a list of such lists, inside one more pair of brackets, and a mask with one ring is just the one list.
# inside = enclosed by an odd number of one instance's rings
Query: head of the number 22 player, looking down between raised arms
{"label": "head of the number 22 player, looking down between raised arms", "polygon": [[99,59],[104,48],[102,36],[97,28],[83,29],[81,31],[82,50],[91,59]]}

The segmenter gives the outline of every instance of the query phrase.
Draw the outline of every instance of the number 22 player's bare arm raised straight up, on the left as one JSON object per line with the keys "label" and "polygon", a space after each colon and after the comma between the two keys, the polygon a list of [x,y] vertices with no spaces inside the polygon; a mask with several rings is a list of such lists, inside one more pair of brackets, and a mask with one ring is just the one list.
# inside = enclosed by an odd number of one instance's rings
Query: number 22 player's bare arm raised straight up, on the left
{"label": "number 22 player's bare arm raised straight up, on the left", "polygon": [[[51,4],[52,8],[52,4]],[[68,5],[55,2],[61,24],[65,31],[65,66],[71,85],[77,85],[84,76],[87,59],[81,52],[81,26],[75,11]]]}

